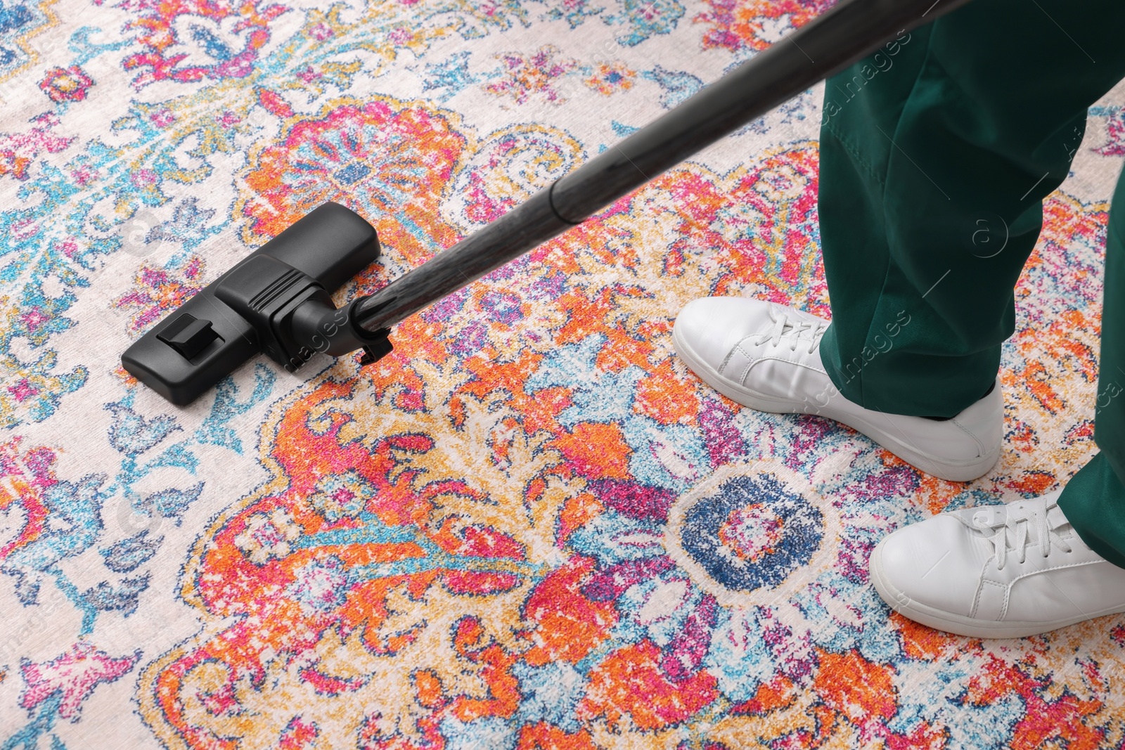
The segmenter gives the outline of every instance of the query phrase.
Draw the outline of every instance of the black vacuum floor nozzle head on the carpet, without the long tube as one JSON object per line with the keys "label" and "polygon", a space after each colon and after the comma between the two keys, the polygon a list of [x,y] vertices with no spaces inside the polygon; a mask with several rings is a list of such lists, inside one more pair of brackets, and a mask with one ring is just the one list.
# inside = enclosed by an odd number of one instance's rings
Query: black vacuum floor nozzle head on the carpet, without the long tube
{"label": "black vacuum floor nozzle head on the carpet, without the long tube", "polygon": [[379,255],[375,227],[324,204],[183,302],[122,355],[125,369],[177,405],[189,404],[258,353],[290,372],[316,353],[390,352],[386,328],[357,324],[335,290]]}

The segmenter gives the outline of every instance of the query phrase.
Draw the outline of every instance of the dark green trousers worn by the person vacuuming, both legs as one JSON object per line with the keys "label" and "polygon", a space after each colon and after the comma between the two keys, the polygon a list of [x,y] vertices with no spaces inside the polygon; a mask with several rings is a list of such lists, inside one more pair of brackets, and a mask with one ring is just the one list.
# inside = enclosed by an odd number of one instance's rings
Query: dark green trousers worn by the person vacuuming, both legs
{"label": "dark green trousers worn by the person vacuuming, both legs", "polygon": [[[950,417],[996,380],[1043,198],[1125,78],[1125,1],[974,0],[828,80],[820,231],[844,396]],[[1106,247],[1095,441],[1060,499],[1125,567],[1125,187]],[[1117,383],[1122,386],[1118,387]]]}

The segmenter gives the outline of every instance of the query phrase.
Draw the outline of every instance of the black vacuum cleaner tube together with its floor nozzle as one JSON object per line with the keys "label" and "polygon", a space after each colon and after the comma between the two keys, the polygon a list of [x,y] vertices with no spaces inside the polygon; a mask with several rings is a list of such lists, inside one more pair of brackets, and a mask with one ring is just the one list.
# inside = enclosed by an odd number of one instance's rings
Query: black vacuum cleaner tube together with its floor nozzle
{"label": "black vacuum cleaner tube together with its floor nozzle", "polygon": [[324,204],[213,281],[122,355],[125,369],[188,404],[256,353],[292,371],[316,353],[385,356],[390,326],[580,224],[903,31],[969,0],[843,0],[678,107],[368,297],[328,290],[379,254],[375,229]]}

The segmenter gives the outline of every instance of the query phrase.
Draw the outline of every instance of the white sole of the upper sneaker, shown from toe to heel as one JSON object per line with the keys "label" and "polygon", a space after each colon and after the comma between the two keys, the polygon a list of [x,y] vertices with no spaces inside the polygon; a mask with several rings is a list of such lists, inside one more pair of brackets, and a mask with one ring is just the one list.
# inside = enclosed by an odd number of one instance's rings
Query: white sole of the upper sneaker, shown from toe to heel
{"label": "white sole of the upper sneaker, shown from toe to heel", "polygon": [[883,427],[865,419],[854,416],[835,416],[826,413],[826,410],[809,412],[804,408],[803,404],[794,405],[792,400],[765,396],[764,394],[758,394],[731,382],[703,362],[702,359],[698,358],[687,342],[681,337],[680,331],[675,326],[672,328],[672,342],[676,354],[687,363],[703,382],[732,401],[748,406],[752,409],[757,409],[758,412],[770,412],[772,414],[816,414],[816,416],[835,419],[866,435],[910,466],[940,479],[972,481],[984,476],[989,469],[996,466],[997,460],[1000,458],[999,445],[984,453],[984,455],[968,460],[947,460],[924,453],[909,443],[899,440]]}

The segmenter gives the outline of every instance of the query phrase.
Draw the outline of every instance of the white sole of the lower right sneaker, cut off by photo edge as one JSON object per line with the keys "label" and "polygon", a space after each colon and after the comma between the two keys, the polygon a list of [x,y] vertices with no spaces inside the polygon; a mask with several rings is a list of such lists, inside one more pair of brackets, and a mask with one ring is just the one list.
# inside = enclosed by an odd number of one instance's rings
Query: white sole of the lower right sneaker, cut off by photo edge
{"label": "white sole of the lower right sneaker, cut off by photo edge", "polygon": [[886,580],[886,572],[883,570],[882,552],[883,542],[880,542],[871,553],[871,561],[868,562],[867,570],[870,572],[871,582],[874,584],[875,590],[879,591],[879,596],[883,598],[883,602],[885,602],[891,609],[898,612],[903,617],[909,617],[910,620],[921,623],[927,627],[945,631],[946,633],[953,633],[954,635],[966,635],[969,638],[1028,638],[1030,635],[1040,635],[1059,627],[1065,627],[1066,625],[1086,622],[1087,620],[1092,620],[1095,617],[1102,617],[1125,612],[1125,606],[1120,606],[1090,615],[1066,617],[1064,620],[1054,620],[1051,622],[1002,622],[964,617],[962,615],[955,615],[952,612],[945,612],[943,609],[926,606],[925,604],[919,604],[891,586],[890,581]]}

